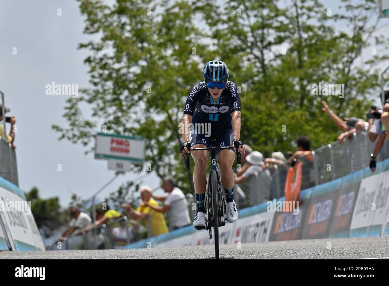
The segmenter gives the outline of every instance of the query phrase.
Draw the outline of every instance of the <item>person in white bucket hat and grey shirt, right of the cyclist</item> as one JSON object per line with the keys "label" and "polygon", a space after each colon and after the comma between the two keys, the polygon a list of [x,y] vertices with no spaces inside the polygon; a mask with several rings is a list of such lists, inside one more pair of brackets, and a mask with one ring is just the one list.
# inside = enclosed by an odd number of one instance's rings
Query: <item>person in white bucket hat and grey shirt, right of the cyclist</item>
{"label": "person in white bucket hat and grey shirt, right of the cyclist", "polygon": [[258,151],[252,151],[245,159],[249,167],[241,176],[235,174],[235,182],[240,184],[250,179],[249,205],[267,202],[270,199],[272,175],[265,168],[263,155]]}

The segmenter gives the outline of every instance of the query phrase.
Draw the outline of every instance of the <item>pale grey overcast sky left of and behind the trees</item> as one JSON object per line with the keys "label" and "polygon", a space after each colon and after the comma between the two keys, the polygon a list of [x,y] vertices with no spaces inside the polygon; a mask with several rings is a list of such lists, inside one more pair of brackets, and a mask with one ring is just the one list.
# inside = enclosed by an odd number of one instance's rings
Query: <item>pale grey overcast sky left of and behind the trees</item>
{"label": "pale grey overcast sky left of and behind the trees", "polygon": [[[339,2],[325,3],[336,11]],[[46,84],[89,85],[88,69],[83,64],[88,51],[77,50],[77,45],[92,37],[82,34],[84,22],[78,5],[73,0],[0,2],[0,90],[5,93],[5,105],[11,108],[9,114],[17,118],[19,187],[29,191],[37,186],[41,197],[58,196],[63,206],[68,205],[71,193],[89,198],[114,175],[107,161],[84,155],[80,145],[58,141],[59,134],[51,129],[53,123],[67,126],[62,118],[66,96],[46,95]],[[58,8],[62,16],[57,16]],[[380,25],[388,22],[389,18],[381,19]],[[337,27],[347,29],[341,24]],[[379,32],[389,35],[387,27]],[[16,55],[12,54],[14,47]],[[365,60],[370,53],[370,49],[364,51]],[[387,65],[389,62],[382,67]],[[119,177],[101,197],[135,177],[138,174]],[[158,177],[149,175],[147,184],[158,186]]]}

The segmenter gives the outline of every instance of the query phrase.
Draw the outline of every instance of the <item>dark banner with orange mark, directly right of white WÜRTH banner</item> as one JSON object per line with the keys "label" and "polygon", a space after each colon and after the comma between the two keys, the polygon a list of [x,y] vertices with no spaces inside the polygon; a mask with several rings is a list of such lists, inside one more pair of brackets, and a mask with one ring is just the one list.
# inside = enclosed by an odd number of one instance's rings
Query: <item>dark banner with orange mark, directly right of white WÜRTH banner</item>
{"label": "dark banner with orange mark, directly right of white W\u00dcRTH banner", "polygon": [[309,202],[300,200],[296,212],[275,212],[269,241],[301,239]]}

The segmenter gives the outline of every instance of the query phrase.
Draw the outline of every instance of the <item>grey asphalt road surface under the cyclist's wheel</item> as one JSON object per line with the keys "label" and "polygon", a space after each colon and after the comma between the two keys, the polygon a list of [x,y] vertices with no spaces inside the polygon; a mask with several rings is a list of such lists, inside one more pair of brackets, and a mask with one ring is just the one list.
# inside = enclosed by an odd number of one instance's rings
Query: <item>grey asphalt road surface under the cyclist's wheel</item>
{"label": "grey asphalt road surface under the cyclist's wheel", "polygon": [[[214,246],[151,249],[3,251],[0,259],[213,259]],[[389,259],[389,237],[309,239],[221,245],[221,259]]]}

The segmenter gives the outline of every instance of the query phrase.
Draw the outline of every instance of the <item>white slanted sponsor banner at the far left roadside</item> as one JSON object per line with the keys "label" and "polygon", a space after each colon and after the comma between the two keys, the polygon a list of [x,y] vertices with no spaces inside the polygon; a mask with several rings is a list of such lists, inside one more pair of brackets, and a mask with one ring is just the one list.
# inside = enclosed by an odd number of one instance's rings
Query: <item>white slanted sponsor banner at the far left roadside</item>
{"label": "white slanted sponsor banner at the far left roadside", "polygon": [[[0,187],[0,201],[2,202],[25,202],[18,195]],[[2,218],[5,228],[9,230],[15,249],[22,250],[45,250],[42,237],[31,213],[30,206],[24,204],[25,209],[15,211],[3,211]]]}

